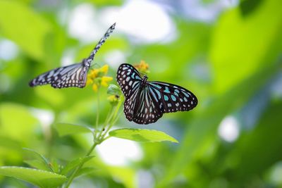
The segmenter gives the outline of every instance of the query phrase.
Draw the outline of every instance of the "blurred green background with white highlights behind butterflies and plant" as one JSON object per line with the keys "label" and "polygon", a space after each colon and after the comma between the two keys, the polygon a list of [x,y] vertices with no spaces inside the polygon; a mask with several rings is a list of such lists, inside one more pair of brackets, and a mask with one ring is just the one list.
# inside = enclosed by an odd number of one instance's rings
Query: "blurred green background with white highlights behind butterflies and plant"
{"label": "blurred green background with white highlights behind butterflies and plant", "polygon": [[[109,139],[73,187],[282,187],[282,11],[279,0],[1,0],[0,165],[27,166],[23,147],[51,160],[83,156],[91,135],[59,137],[54,123],[94,125],[91,87],[31,88],[52,68],[94,59],[116,77],[149,63],[149,80],[192,91],[198,106],[151,125],[179,144]],[[116,84],[116,80],[111,82]],[[101,92],[102,120],[110,105]],[[0,187],[32,187],[0,177]]]}

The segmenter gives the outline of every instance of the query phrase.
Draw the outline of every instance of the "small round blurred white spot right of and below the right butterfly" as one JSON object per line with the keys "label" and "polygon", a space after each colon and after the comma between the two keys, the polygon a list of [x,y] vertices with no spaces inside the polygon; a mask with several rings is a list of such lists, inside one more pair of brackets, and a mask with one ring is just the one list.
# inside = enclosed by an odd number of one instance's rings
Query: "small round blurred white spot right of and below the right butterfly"
{"label": "small round blurred white spot right of and below the right butterfly", "polygon": [[226,116],[219,125],[219,137],[226,142],[234,142],[239,136],[239,123],[231,115]]}

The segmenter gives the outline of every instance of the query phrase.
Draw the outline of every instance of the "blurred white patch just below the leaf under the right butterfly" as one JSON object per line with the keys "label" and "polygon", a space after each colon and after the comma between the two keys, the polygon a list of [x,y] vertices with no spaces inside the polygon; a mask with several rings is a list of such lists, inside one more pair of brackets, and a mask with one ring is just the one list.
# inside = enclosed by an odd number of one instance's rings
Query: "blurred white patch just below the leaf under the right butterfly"
{"label": "blurred white patch just below the leaf under the right butterfly", "polygon": [[97,146],[102,161],[109,165],[127,165],[128,161],[140,161],[142,149],[133,141],[111,137]]}

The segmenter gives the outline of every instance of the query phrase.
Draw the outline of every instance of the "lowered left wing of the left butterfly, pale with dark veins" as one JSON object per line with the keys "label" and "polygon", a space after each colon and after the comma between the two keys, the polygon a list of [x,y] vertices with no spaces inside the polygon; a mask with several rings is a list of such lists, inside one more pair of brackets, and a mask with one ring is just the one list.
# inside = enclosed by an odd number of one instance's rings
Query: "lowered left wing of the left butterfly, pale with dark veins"
{"label": "lowered left wing of the left butterfly, pale with dark veins", "polygon": [[51,84],[54,88],[85,87],[87,69],[82,63],[55,68],[30,81],[30,87]]}

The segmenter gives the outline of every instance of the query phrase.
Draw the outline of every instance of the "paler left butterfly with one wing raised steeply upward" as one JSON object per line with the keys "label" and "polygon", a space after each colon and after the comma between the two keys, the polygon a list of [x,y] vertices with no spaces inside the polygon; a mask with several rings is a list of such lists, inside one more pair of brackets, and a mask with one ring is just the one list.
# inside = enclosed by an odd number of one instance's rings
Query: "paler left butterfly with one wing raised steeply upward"
{"label": "paler left butterfly with one wing raised steeply upward", "polygon": [[100,49],[102,44],[114,31],[116,23],[111,25],[106,31],[104,37],[100,39],[98,44],[95,46],[88,58],[84,58],[81,63],[75,63],[73,65],[68,65],[60,68],[55,68],[43,73],[35,79],[30,81],[30,87],[35,87],[37,85],[51,84],[51,87],[62,88],[62,87],[85,87],[87,72],[90,68],[91,62],[94,59],[95,54]]}

